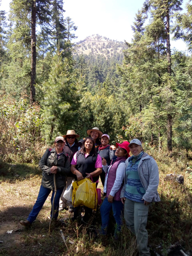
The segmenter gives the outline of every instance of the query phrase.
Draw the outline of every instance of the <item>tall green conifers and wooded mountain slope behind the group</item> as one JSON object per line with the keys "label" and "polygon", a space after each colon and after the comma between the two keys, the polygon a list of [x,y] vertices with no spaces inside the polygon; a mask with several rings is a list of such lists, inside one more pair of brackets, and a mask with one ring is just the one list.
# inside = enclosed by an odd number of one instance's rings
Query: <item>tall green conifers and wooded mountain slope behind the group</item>
{"label": "tall green conifers and wooded mountain slope behind the group", "polygon": [[12,0],[8,20],[0,11],[0,95],[36,101],[48,141],[98,126],[113,142],[137,136],[188,154],[192,57],[170,48],[173,33],[191,50],[192,6],[181,13],[181,3],[144,1],[131,43],[96,35],[76,46],[78,24],[65,17],[63,0]]}

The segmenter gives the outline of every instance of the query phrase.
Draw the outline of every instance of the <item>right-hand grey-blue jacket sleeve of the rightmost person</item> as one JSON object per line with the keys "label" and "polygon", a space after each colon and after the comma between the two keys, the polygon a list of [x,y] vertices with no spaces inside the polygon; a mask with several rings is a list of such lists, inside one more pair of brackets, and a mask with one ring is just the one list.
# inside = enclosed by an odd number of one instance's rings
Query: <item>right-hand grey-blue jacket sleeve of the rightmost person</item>
{"label": "right-hand grey-blue jacket sleeve of the rightmost person", "polygon": [[[150,158],[149,161],[149,185],[143,196],[144,201],[151,203],[156,196],[157,188],[159,184],[159,171],[158,166],[154,158]],[[146,204],[146,203],[145,203]]]}

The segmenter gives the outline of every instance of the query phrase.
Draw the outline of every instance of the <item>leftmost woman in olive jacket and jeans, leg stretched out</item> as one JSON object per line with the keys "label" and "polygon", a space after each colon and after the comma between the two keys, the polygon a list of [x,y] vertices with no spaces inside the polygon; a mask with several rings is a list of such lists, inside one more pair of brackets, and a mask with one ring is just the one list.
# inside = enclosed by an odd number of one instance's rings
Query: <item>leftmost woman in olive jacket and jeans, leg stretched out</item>
{"label": "leftmost woman in olive jacket and jeans, leg stretched out", "polygon": [[54,219],[58,218],[59,201],[60,195],[66,184],[66,175],[70,172],[70,159],[67,154],[63,151],[63,146],[65,145],[65,140],[63,137],[59,136],[55,139],[55,147],[53,149],[49,148],[44,153],[43,157],[39,161],[39,167],[42,170],[42,181],[39,190],[36,203],[30,212],[27,220],[20,221],[20,224],[27,227],[30,226],[36,219],[39,211],[43,207],[48,195],[52,191],[51,196],[51,216],[52,216],[52,204],[54,197],[54,174],[56,175],[56,186],[57,193],[54,202]]}

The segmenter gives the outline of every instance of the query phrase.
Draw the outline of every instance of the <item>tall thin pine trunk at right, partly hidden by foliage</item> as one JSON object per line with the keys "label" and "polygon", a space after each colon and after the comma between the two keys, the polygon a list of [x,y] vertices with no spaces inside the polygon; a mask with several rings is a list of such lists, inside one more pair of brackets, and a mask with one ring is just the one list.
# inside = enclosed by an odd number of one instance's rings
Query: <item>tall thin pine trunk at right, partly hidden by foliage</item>
{"label": "tall thin pine trunk at right, partly hidden by foliage", "polygon": [[[170,17],[169,17],[169,8],[167,6],[167,60],[168,60],[168,73],[171,76],[171,49],[170,49]],[[171,103],[168,100],[169,104]],[[168,113],[168,151],[172,151],[172,114]]]}

